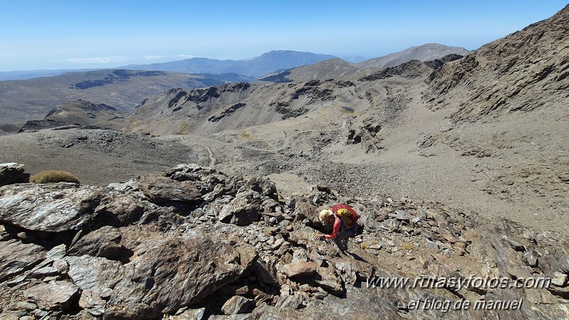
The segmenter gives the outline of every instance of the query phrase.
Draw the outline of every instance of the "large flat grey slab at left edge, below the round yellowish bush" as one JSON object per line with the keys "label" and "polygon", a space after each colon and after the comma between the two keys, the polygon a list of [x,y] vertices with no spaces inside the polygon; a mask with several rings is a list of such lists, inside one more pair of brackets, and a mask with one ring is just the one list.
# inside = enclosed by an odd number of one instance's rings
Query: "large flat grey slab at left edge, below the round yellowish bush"
{"label": "large flat grey slab at left edge, below the round yellowish bush", "polygon": [[96,187],[45,183],[0,187],[0,220],[28,230],[79,230],[93,221],[103,195]]}

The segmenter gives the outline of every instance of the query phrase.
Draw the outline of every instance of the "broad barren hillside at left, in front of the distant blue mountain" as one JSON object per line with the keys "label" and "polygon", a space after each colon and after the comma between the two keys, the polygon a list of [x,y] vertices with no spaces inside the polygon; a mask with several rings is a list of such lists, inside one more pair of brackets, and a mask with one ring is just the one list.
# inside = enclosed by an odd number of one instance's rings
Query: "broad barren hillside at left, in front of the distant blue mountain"
{"label": "broad barren hillside at left, in front of the distant blue mountain", "polygon": [[0,132],[3,129],[14,131],[28,120],[43,119],[56,106],[73,100],[82,99],[130,112],[145,98],[171,87],[191,89],[221,83],[221,80],[198,75],[132,70],[96,70],[0,81]]}

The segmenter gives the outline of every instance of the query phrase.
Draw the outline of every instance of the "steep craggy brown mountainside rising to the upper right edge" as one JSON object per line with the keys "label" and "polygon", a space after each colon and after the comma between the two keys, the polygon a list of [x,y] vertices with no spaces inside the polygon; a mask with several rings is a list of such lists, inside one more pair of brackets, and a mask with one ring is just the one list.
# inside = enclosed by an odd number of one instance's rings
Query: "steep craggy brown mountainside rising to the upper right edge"
{"label": "steep craggy brown mountainside rising to the upper right edge", "polygon": [[[452,122],[528,112],[567,99],[569,6],[432,73],[424,100]],[[562,103],[563,105],[563,103]]]}

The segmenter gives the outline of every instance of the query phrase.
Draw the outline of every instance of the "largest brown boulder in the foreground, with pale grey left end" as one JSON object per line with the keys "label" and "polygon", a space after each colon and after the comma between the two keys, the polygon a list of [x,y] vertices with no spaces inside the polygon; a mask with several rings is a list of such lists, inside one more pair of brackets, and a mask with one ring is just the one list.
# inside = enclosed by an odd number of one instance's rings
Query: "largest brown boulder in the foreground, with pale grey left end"
{"label": "largest brown boulder in the foreground, with pale grey left end", "polygon": [[121,244],[132,250],[125,265],[88,255],[66,257],[68,274],[80,289],[113,288],[104,313],[109,317],[147,319],[172,314],[235,281],[256,259],[254,250],[234,248],[204,235],[181,239],[133,229],[121,233]]}

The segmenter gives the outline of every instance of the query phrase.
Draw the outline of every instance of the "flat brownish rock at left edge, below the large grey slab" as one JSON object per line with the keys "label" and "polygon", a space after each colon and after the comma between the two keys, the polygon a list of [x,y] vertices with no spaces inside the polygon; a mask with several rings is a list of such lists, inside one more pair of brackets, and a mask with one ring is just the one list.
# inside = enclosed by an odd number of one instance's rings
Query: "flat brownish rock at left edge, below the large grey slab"
{"label": "flat brownish rock at left edge, below the large grey slab", "polygon": [[0,243],[0,282],[31,269],[46,257],[40,245],[14,239]]}

